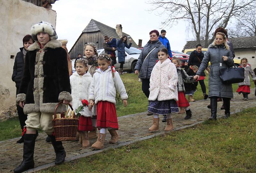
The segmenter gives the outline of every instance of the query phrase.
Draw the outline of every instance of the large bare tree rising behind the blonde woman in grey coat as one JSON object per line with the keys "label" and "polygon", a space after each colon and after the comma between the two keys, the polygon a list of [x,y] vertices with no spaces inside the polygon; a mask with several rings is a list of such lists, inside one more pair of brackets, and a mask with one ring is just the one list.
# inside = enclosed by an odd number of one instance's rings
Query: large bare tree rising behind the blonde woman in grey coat
{"label": "large bare tree rising behind the blonde woman in grey coat", "polygon": [[168,15],[161,27],[188,21],[197,42],[204,38],[204,45],[208,47],[216,27],[226,28],[231,18],[241,18],[242,12],[252,11],[256,0],[149,0],[148,4],[153,5],[149,11],[161,9],[160,15]]}

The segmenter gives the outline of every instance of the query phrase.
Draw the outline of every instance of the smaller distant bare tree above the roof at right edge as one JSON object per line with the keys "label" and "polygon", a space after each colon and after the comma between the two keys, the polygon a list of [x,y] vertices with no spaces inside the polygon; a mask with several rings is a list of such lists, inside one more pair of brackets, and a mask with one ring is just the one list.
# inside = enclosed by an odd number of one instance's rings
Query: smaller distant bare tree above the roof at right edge
{"label": "smaller distant bare tree above the roof at right edge", "polygon": [[230,37],[256,36],[256,11],[247,11],[238,18],[235,27],[228,27]]}

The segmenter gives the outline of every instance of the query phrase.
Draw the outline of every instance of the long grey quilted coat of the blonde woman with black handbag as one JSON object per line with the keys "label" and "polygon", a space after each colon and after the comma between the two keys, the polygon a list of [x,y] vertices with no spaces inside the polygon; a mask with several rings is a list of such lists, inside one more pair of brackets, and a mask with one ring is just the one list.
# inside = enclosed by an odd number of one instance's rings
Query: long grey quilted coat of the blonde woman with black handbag
{"label": "long grey quilted coat of the blonde woman with black handbag", "polygon": [[[227,56],[228,60],[223,61],[222,56]],[[209,97],[233,98],[232,84],[223,84],[220,79],[220,69],[227,68],[227,66],[233,66],[231,51],[229,49],[227,50],[224,45],[213,46],[211,44],[204,54],[204,59],[196,75],[200,76],[204,72],[209,61],[211,62],[211,70],[209,73]]]}

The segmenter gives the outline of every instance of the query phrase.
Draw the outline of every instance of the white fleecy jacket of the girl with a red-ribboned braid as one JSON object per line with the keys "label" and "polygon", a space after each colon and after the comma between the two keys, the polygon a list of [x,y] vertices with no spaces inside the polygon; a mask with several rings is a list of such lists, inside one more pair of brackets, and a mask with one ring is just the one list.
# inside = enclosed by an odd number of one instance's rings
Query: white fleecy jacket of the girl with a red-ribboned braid
{"label": "white fleecy jacket of the girl with a red-ribboned braid", "polygon": [[104,72],[97,69],[90,85],[89,100],[94,100],[95,104],[99,101],[108,101],[116,104],[116,90],[122,100],[128,98],[124,83],[118,72],[115,72],[115,77],[113,77],[111,68]]}

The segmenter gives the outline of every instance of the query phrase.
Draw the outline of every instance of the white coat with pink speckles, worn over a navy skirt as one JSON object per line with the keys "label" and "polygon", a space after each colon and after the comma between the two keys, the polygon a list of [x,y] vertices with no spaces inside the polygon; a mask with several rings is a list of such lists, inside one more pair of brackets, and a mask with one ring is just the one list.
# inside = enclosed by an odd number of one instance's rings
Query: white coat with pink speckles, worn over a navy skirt
{"label": "white coat with pink speckles, worn over a navy skirt", "polygon": [[178,100],[178,74],[175,65],[167,58],[163,63],[158,61],[150,77],[150,94],[148,100]]}

